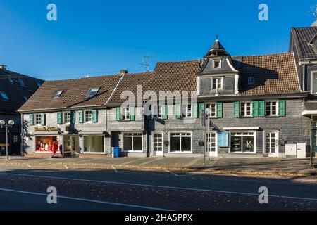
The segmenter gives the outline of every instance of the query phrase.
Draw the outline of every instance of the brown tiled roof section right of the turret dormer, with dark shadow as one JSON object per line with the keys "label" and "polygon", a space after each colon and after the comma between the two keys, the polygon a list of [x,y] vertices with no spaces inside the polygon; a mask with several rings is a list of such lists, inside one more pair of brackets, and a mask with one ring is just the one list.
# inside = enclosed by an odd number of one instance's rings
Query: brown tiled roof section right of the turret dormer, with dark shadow
{"label": "brown tiled roof section right of the turret dormer, with dark shadow", "polygon": [[[237,65],[239,62],[235,57],[233,59]],[[292,94],[301,91],[293,53],[243,56],[239,67],[240,95]],[[255,83],[248,84],[248,77],[254,77]]]}

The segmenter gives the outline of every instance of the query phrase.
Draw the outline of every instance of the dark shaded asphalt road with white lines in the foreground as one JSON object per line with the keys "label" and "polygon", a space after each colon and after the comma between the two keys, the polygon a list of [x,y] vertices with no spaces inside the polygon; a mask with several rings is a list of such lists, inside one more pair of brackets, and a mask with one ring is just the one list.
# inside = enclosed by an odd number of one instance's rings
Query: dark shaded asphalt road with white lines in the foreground
{"label": "dark shaded asphalt road with white lines in the foreground", "polygon": [[[317,210],[316,184],[295,179],[1,166],[0,180],[1,210]],[[50,186],[57,204],[46,201]]]}

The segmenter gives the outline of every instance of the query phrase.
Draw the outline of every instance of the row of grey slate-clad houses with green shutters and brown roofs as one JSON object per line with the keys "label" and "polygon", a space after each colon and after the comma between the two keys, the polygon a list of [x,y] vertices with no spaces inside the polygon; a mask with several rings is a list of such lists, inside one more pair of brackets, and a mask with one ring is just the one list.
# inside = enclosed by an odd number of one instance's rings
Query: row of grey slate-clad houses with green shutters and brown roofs
{"label": "row of grey slate-clad houses with green shutters and brown roofs", "polygon": [[144,157],[204,149],[282,157],[297,143],[309,151],[317,92],[302,89],[292,40],[289,53],[266,56],[230,56],[216,40],[203,59],[157,63],[153,72],[44,82],[19,110],[23,150],[46,154],[57,142],[64,155],[80,156],[112,147]]}

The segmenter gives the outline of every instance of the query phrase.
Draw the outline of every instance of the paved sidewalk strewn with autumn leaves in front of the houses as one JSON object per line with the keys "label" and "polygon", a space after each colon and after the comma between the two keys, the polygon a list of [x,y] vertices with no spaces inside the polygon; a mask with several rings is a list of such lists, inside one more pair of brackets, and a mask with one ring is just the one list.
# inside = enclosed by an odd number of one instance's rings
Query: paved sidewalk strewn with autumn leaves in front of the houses
{"label": "paved sidewalk strewn with autumn leaves in front of the houses", "polygon": [[[0,165],[40,169],[135,169],[265,177],[317,177],[309,158],[22,158],[0,157]],[[314,159],[317,164],[316,158]]]}

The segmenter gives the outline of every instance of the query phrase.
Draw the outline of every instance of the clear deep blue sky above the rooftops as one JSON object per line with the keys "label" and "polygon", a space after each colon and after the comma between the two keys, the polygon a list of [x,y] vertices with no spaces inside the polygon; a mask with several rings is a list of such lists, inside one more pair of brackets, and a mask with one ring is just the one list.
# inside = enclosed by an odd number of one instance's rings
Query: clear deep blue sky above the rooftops
{"label": "clear deep blue sky above the rooftops", "polygon": [[[46,6],[58,20],[46,20]],[[268,5],[268,21],[258,6]],[[291,27],[308,27],[316,1],[0,0],[0,63],[41,79],[144,72],[157,61],[202,58],[215,34],[232,55],[288,50]]]}

